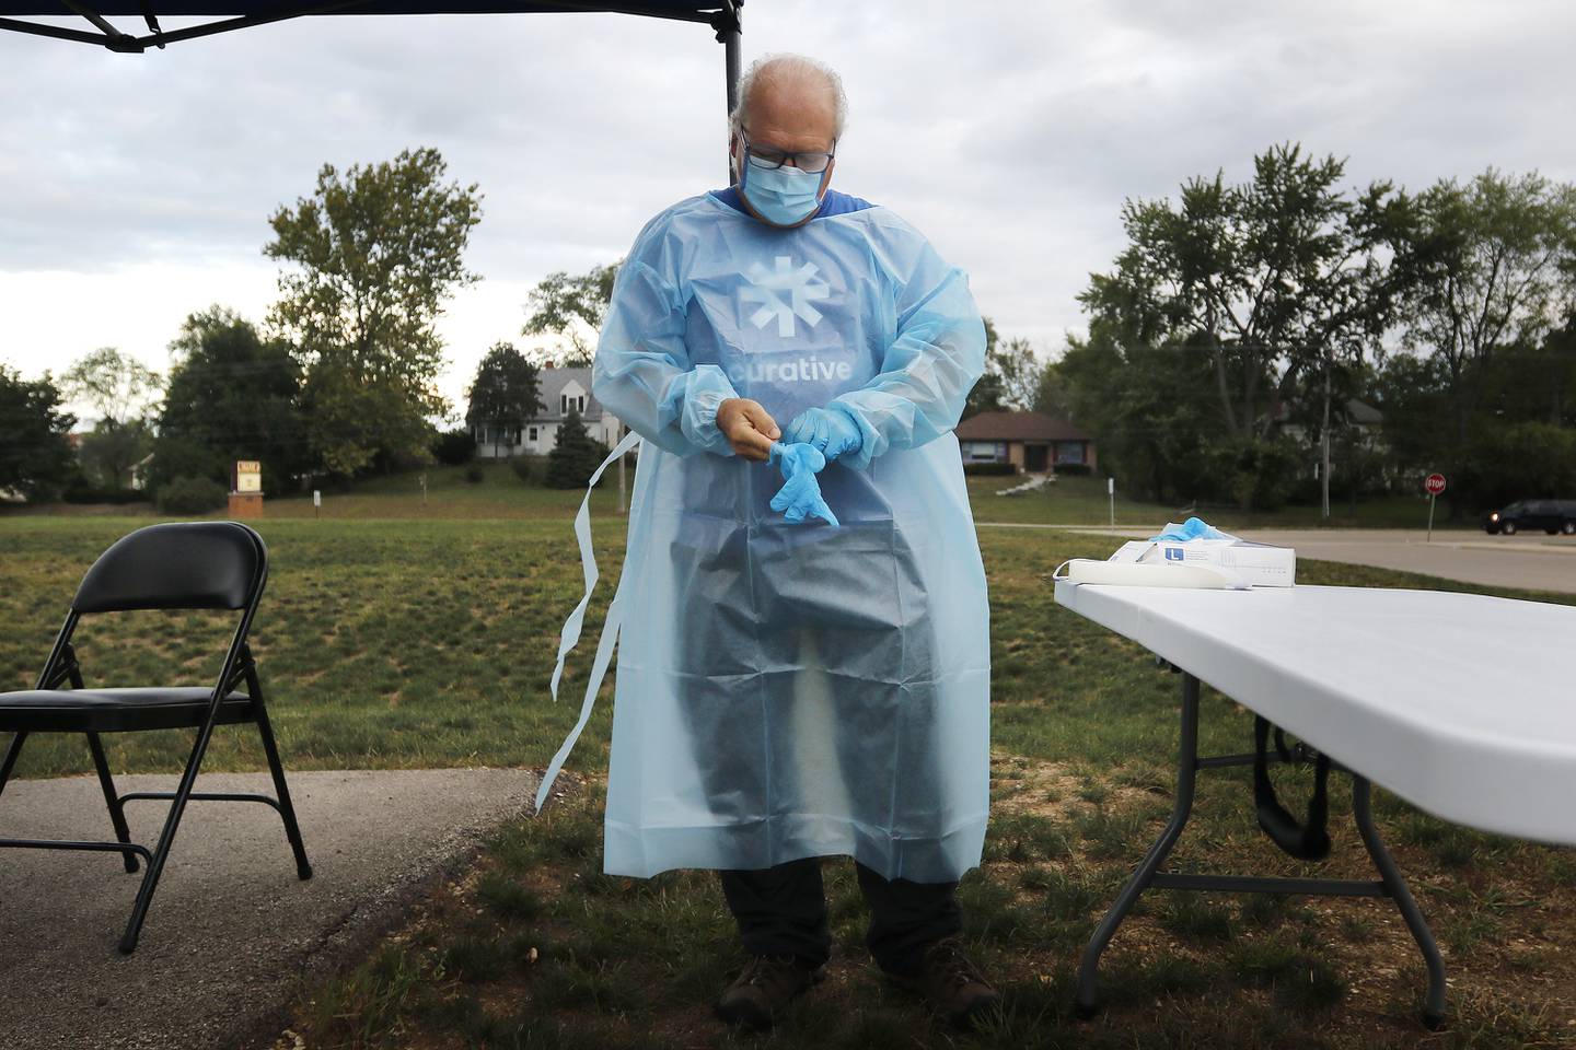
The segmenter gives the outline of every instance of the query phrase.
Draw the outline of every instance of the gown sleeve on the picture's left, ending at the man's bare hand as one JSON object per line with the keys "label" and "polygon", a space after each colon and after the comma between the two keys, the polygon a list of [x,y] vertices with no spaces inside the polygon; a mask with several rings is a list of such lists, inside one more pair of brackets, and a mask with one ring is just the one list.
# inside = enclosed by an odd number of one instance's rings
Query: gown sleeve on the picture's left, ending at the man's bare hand
{"label": "gown sleeve on the picture's left, ending at the man's bare hand", "polygon": [[717,365],[690,364],[676,249],[665,227],[660,216],[648,224],[618,268],[591,364],[591,394],[659,449],[733,455],[717,430],[717,406],[738,394]]}

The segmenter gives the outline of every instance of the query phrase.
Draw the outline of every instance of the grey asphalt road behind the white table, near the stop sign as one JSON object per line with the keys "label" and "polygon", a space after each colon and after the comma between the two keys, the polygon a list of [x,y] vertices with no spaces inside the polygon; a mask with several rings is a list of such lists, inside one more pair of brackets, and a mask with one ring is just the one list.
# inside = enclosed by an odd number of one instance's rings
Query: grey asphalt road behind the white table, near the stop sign
{"label": "grey asphalt road behind the white table, near the stop sign", "polygon": [[[1048,527],[1098,532],[1124,540],[1154,535],[1154,529],[1110,532],[1097,526],[980,523],[980,527]],[[1291,546],[1297,549],[1297,557],[1314,560],[1396,568],[1488,587],[1576,593],[1576,537],[1451,531],[1434,532],[1433,542],[1428,542],[1422,529],[1245,529],[1237,535],[1259,543]]]}

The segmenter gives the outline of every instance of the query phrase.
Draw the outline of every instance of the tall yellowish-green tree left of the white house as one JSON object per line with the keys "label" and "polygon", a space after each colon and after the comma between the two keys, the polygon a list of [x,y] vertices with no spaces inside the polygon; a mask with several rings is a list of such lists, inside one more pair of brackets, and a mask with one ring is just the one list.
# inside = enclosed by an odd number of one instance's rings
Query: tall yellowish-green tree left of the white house
{"label": "tall yellowish-green tree left of the white house", "polygon": [[306,372],[310,447],[331,474],[426,460],[427,419],[448,412],[437,320],[454,290],[479,280],[460,257],[481,194],[444,183],[446,170],[427,148],[344,176],[325,164],[312,197],[269,217],[276,239],[263,253],[293,264],[269,321]]}

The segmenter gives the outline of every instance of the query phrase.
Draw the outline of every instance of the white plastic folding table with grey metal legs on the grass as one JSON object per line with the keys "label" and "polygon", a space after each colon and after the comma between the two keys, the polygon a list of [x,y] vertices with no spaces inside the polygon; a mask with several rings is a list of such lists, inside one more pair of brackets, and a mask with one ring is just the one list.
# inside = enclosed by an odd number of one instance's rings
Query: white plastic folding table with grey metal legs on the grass
{"label": "white plastic folding table with grey metal legs on the grass", "polygon": [[[1442,590],[1256,587],[1190,590],[1056,582],[1056,603],[1182,672],[1171,820],[1095,929],[1078,1007],[1097,1007],[1097,967],[1146,888],[1392,897],[1428,965],[1423,1020],[1444,1020],[1439,948],[1379,841],[1370,782],[1485,831],[1576,844],[1576,608]],[[1163,872],[1193,808],[1195,773],[1253,754],[1198,756],[1207,682],[1300,737],[1352,776],[1352,815],[1377,882]]]}

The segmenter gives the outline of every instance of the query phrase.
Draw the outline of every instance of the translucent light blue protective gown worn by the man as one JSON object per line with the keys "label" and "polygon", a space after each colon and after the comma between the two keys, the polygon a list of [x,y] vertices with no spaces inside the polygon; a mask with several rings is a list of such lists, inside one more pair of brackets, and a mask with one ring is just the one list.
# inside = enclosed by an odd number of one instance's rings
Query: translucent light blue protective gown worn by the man
{"label": "translucent light blue protective gown worn by the man", "polygon": [[[985,367],[963,271],[837,195],[794,230],[717,194],[652,219],[618,272],[593,394],[645,444],[619,581],[605,871],[851,855],[887,878],[979,864],[990,631],[952,430]],[[853,205],[849,203],[853,201]],[[730,397],[857,420],[790,524],[733,455]]]}

